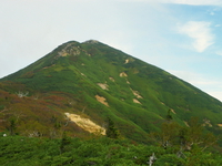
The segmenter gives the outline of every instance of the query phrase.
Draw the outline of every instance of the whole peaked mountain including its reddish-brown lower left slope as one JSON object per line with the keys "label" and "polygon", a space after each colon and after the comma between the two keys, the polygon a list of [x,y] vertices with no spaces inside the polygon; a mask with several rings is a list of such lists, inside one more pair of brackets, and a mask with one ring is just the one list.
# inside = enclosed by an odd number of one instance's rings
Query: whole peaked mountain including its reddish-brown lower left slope
{"label": "whole peaked mountain including its reddish-brown lower left slope", "polygon": [[[192,116],[199,117],[208,129],[221,134],[220,101],[164,70],[94,40],[67,42],[2,77],[0,96],[1,123],[9,127],[13,116],[13,121],[20,121],[18,129],[29,134],[44,131],[47,135],[49,128],[68,124],[64,113],[100,126],[110,117],[121,135],[139,142],[159,131],[168,114],[184,126]],[[77,124],[67,125],[73,135],[88,134]]]}

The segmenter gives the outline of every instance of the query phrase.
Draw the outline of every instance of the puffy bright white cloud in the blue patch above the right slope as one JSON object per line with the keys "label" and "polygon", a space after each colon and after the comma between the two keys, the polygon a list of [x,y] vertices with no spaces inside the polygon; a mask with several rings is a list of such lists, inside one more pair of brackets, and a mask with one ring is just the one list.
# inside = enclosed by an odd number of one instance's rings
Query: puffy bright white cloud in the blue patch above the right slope
{"label": "puffy bright white cloud in the blue patch above the right slope", "polygon": [[214,43],[214,34],[211,32],[211,23],[205,21],[189,21],[179,25],[178,31],[193,39],[192,46],[198,52],[203,52]]}

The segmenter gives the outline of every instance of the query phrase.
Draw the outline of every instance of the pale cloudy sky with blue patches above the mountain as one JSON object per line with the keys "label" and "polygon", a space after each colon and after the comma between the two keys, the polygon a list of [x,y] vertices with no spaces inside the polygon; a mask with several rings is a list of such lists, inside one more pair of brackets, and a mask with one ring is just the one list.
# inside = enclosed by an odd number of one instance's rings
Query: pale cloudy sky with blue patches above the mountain
{"label": "pale cloudy sky with blue patches above the mountain", "polygon": [[221,0],[1,0],[0,77],[99,40],[222,101]]}

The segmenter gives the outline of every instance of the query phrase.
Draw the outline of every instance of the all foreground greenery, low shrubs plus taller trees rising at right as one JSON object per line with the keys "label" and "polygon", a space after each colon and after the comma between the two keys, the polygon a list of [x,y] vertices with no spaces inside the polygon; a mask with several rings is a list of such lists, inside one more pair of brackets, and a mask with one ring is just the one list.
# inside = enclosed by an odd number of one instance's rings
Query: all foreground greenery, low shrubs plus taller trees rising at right
{"label": "all foreground greenery, low shrubs plus taller trees rising at right", "polygon": [[206,132],[198,118],[191,118],[188,125],[180,126],[168,114],[161,131],[148,135],[147,144],[123,138],[110,118],[107,136],[70,137],[65,131],[60,138],[1,133],[0,165],[222,165],[221,148],[215,144],[218,138]]}

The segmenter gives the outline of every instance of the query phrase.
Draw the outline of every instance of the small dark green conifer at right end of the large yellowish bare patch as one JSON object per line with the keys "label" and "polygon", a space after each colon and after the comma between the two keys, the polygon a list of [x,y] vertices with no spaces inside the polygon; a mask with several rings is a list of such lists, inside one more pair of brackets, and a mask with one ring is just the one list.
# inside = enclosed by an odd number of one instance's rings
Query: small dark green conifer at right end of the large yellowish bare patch
{"label": "small dark green conifer at right end of the large yellowish bare patch", "polygon": [[120,136],[118,128],[114,126],[114,123],[110,117],[108,117],[105,135],[110,138],[118,138]]}

